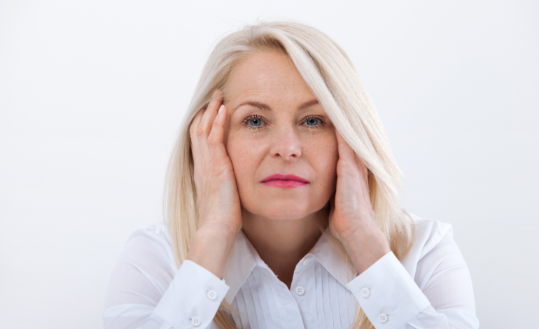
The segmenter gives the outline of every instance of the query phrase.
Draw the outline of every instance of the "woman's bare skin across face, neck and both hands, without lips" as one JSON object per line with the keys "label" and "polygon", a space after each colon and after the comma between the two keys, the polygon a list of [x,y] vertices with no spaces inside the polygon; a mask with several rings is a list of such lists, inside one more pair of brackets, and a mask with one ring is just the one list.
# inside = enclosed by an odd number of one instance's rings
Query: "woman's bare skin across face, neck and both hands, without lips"
{"label": "woman's bare skin across face, neck and both hands, without lips", "polygon": [[[358,273],[391,251],[374,220],[367,168],[288,56],[263,50],[239,64],[225,99],[214,92],[190,136],[200,222],[186,259],[219,278],[239,230],[288,288],[328,218]],[[274,174],[308,183],[262,183]]]}

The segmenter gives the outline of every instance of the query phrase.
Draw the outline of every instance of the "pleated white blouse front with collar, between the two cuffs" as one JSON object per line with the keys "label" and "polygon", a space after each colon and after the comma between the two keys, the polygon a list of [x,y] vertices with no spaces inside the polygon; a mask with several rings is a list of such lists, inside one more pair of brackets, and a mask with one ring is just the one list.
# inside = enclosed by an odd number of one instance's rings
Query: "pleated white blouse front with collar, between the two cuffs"
{"label": "pleated white blouse front with collar, between the two cuffs", "polygon": [[354,273],[328,234],[296,265],[290,290],[239,235],[224,274],[230,286],[225,300],[239,311],[232,314],[238,328],[349,328],[357,301],[346,283]]}

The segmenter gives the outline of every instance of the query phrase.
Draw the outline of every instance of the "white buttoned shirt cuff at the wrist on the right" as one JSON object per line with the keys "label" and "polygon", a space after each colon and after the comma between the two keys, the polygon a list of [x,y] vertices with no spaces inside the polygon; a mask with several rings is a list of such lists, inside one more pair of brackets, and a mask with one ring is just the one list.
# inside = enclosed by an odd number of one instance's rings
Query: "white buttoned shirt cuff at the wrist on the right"
{"label": "white buttoned shirt cuff at the wrist on the right", "polygon": [[346,287],[377,329],[400,328],[430,305],[393,251],[374,262]]}

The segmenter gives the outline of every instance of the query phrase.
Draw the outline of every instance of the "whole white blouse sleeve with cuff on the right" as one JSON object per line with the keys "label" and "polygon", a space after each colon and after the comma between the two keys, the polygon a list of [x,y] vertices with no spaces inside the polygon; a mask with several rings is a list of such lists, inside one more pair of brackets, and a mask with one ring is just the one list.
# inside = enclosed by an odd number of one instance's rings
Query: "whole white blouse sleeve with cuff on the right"
{"label": "whole white blouse sleeve with cuff on the right", "polygon": [[347,286],[377,329],[479,328],[470,272],[450,234],[419,260],[414,279],[391,251]]}

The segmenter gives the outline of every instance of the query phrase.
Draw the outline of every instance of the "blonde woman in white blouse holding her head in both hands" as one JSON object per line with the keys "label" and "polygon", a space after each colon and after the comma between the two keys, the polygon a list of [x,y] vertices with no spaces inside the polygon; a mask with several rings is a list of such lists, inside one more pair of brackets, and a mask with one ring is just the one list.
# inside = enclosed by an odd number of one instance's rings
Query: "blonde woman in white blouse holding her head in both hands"
{"label": "blonde woman in white blouse holding her head in both hands", "polygon": [[230,34],[134,232],[105,328],[478,328],[451,226],[409,216],[349,57],[296,22]]}

